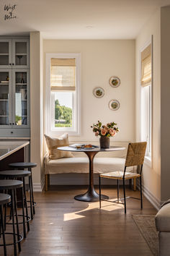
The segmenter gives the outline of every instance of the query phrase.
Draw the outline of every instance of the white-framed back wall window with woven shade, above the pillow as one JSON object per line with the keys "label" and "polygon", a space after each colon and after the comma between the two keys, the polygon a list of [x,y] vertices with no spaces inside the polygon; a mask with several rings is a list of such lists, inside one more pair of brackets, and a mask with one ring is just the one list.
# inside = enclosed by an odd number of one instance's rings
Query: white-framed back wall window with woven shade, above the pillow
{"label": "white-framed back wall window with woven shade, above the pillow", "polygon": [[79,103],[80,54],[46,54],[45,132],[79,135]]}

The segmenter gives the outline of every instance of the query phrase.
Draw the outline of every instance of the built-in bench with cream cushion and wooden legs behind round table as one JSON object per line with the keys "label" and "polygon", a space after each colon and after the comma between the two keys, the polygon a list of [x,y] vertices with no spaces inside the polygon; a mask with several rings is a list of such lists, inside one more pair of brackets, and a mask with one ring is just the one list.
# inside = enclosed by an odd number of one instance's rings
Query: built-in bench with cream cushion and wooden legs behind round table
{"label": "built-in bench with cream cushion and wooden legs behind round table", "polygon": [[[74,144],[75,142],[73,142]],[[79,142],[88,144],[89,142]],[[72,144],[72,143],[71,143]],[[96,142],[92,143],[97,145]],[[125,156],[127,153],[128,142],[113,142],[112,145],[125,147],[121,151],[99,152],[94,158],[94,174],[104,174],[109,171],[123,171],[125,167]],[[59,158],[50,160],[48,153],[45,155],[45,191],[50,185],[50,175],[53,174],[87,174],[89,173],[89,158],[85,153],[71,152],[73,158]],[[128,167],[127,171],[135,171],[134,167]],[[133,181],[135,189],[135,180]]]}

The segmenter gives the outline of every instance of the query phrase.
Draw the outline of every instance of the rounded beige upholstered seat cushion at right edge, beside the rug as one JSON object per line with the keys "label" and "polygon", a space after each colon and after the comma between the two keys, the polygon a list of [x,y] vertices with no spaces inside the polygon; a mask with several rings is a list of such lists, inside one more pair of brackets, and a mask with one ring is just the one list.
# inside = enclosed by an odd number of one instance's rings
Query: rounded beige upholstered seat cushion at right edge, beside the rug
{"label": "rounded beige upholstered seat cushion at right edge, beside the rug", "polygon": [[167,203],[158,211],[155,221],[158,231],[170,231],[170,203]]}

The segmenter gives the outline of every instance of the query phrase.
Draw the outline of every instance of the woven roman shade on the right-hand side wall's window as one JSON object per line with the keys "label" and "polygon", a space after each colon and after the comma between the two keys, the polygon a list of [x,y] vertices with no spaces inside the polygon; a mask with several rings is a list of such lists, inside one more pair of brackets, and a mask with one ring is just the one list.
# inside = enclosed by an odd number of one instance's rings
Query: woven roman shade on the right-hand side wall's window
{"label": "woven roman shade on the right-hand side wall's window", "polygon": [[151,85],[152,80],[152,60],[151,60],[151,44],[141,52],[142,72],[141,85],[143,87]]}

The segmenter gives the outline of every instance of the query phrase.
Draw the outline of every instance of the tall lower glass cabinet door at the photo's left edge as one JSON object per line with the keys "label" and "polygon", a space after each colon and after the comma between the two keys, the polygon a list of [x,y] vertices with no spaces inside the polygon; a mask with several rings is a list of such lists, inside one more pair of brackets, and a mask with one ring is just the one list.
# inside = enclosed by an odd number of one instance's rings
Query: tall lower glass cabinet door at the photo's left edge
{"label": "tall lower glass cabinet door at the photo's left edge", "polygon": [[0,69],[0,128],[11,128],[11,127],[12,127],[12,70]]}

